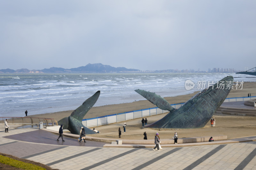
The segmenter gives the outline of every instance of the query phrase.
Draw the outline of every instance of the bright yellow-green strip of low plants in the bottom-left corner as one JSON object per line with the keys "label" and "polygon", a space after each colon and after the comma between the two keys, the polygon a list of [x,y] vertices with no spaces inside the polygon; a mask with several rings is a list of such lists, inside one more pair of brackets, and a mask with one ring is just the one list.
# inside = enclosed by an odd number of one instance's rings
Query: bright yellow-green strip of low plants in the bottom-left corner
{"label": "bright yellow-green strip of low plants in the bottom-left corner", "polygon": [[28,170],[46,170],[40,166],[36,166],[33,164],[25,163],[19,160],[11,159],[6,156],[0,155],[0,162],[6,165],[10,165],[16,168],[28,169]]}

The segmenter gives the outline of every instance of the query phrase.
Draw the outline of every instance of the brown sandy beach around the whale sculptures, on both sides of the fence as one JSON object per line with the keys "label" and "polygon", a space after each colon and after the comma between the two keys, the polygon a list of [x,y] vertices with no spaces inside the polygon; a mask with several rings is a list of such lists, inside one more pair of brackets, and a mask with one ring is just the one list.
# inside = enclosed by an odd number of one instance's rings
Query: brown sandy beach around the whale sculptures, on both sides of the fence
{"label": "brown sandy beach around the whale sculptures, on both sides of the fence", "polygon": [[[243,89],[232,89],[227,98],[233,97],[247,97],[248,93],[252,96],[256,96],[256,83],[244,83]],[[175,97],[164,98],[170,104],[183,103],[193,97],[197,92],[187,95],[180,95]],[[93,118],[97,116],[111,115],[116,113],[123,113],[132,110],[140,110],[149,107],[156,107],[148,100],[135,101],[132,103],[123,103],[116,105],[106,105],[100,107],[92,107],[84,118]],[[252,107],[253,109],[253,107]],[[41,115],[28,115],[30,117],[44,117],[53,118],[59,121],[63,117],[68,117],[73,110],[41,114]],[[166,113],[167,114],[167,113]],[[160,114],[147,117],[148,124],[153,123],[166,114]],[[147,132],[148,139],[153,139],[156,132],[159,133],[163,139],[171,139],[174,132],[178,132],[179,138],[182,137],[201,137],[201,136],[215,136],[215,135],[227,135],[228,138],[244,137],[256,135],[256,117],[242,117],[242,116],[214,116],[216,119],[216,127],[211,127],[210,122],[204,128],[199,129],[151,129],[141,127],[141,119],[133,119],[126,121],[126,133],[122,133],[124,139],[143,139],[143,132]],[[95,127],[99,130],[100,134],[90,135],[94,137],[104,138],[118,138],[118,128],[123,130],[124,122],[118,122],[110,125],[103,125]]]}

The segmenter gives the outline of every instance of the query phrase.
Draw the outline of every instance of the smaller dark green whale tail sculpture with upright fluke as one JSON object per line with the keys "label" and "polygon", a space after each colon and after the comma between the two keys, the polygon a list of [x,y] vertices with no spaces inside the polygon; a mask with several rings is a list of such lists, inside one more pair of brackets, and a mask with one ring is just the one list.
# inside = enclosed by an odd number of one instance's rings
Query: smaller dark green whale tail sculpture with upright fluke
{"label": "smaller dark green whale tail sculpture with upright fluke", "polygon": [[82,120],[86,113],[92,108],[100,96],[100,91],[93,94],[90,98],[84,101],[84,103],[76,108],[70,116],[65,117],[58,121],[58,124],[63,125],[63,129],[68,129],[72,134],[80,135],[81,127],[84,128],[86,134],[95,134],[93,130],[85,127],[82,124]]}

